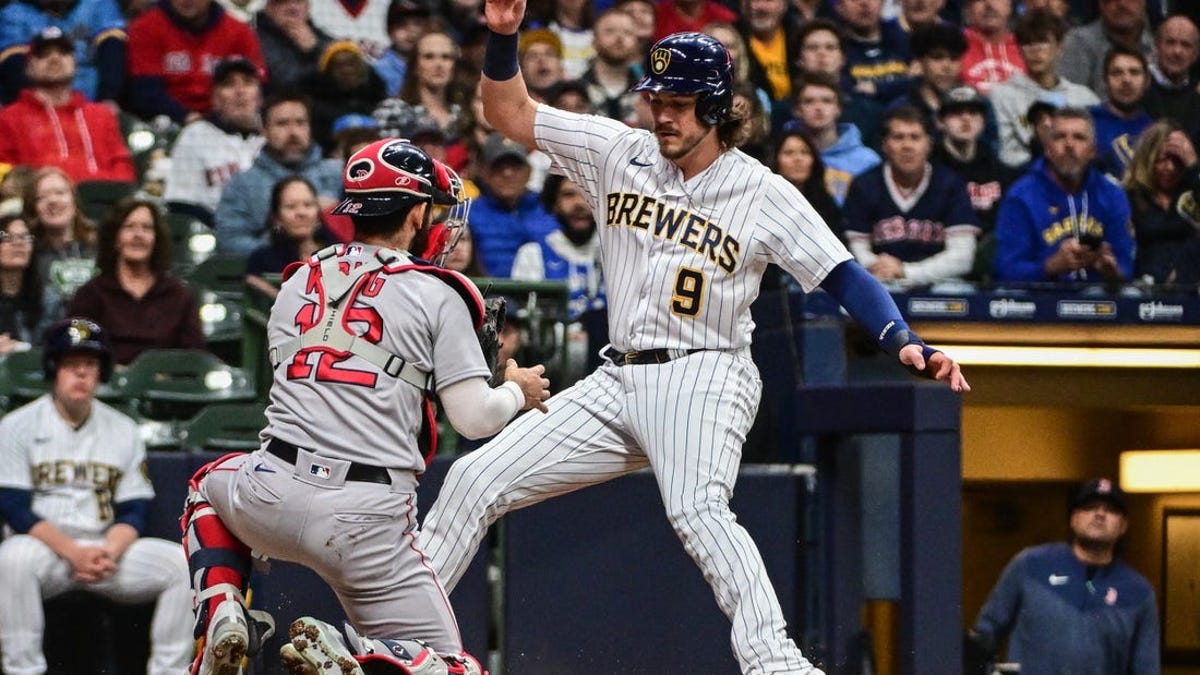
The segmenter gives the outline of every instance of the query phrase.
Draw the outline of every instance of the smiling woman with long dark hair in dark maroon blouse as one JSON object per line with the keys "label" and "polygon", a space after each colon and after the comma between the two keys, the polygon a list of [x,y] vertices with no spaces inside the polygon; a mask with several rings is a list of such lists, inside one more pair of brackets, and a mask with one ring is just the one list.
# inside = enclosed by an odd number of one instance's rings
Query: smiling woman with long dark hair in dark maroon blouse
{"label": "smiling woman with long dark hair in dark maroon blouse", "polygon": [[113,207],[100,227],[96,267],[68,315],[103,325],[118,364],[151,348],[205,347],[196,297],[168,274],[170,239],[154,202],[127,197]]}

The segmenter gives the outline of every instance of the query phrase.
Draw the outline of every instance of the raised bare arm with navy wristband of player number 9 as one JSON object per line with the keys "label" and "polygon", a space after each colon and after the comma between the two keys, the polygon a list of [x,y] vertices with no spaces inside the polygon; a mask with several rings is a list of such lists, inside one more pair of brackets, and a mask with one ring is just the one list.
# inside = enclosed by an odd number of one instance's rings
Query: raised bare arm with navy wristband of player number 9
{"label": "raised bare arm with navy wristband of player number 9", "polygon": [[484,117],[503,133],[533,148],[533,119],[538,102],[529,97],[517,66],[517,42],[524,0],[487,0],[487,48],[484,52]]}

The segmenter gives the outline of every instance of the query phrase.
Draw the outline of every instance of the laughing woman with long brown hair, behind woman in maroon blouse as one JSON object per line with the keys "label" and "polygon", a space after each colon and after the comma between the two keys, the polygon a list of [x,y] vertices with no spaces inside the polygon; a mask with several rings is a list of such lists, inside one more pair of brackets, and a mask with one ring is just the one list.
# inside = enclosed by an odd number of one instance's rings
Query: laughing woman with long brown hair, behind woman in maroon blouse
{"label": "laughing woman with long brown hair, behind woman in maroon blouse", "polygon": [[38,279],[65,305],[96,274],[96,226],[79,209],[71,177],[58,167],[34,173],[22,208],[34,234]]}

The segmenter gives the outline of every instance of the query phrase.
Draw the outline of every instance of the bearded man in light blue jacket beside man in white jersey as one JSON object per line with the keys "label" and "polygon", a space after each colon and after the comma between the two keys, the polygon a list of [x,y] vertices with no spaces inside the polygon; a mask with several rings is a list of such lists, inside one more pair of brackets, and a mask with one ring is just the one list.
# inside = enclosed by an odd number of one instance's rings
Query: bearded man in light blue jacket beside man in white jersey
{"label": "bearded man in light blue jacket beside man in white jersey", "polygon": [[268,222],[271,189],[289,175],[302,175],[317,189],[322,211],[342,195],[342,162],[323,159],[312,142],[308,102],[298,94],[281,94],[263,108],[266,144],[254,163],[221,191],[215,215],[217,251],[248,256],[270,243]]}

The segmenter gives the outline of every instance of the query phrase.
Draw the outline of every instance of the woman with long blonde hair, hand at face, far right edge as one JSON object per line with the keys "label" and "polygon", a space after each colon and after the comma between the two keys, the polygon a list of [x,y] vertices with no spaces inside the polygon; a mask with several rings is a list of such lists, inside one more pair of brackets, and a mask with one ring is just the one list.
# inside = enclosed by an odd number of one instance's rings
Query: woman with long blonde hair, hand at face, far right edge
{"label": "woman with long blonde hair, hand at face, far right edge", "polygon": [[1124,187],[1138,238],[1135,276],[1154,283],[1200,283],[1200,207],[1190,199],[1190,209],[1176,208],[1183,192],[1200,195],[1196,150],[1180,125],[1159,120],[1141,132]]}

